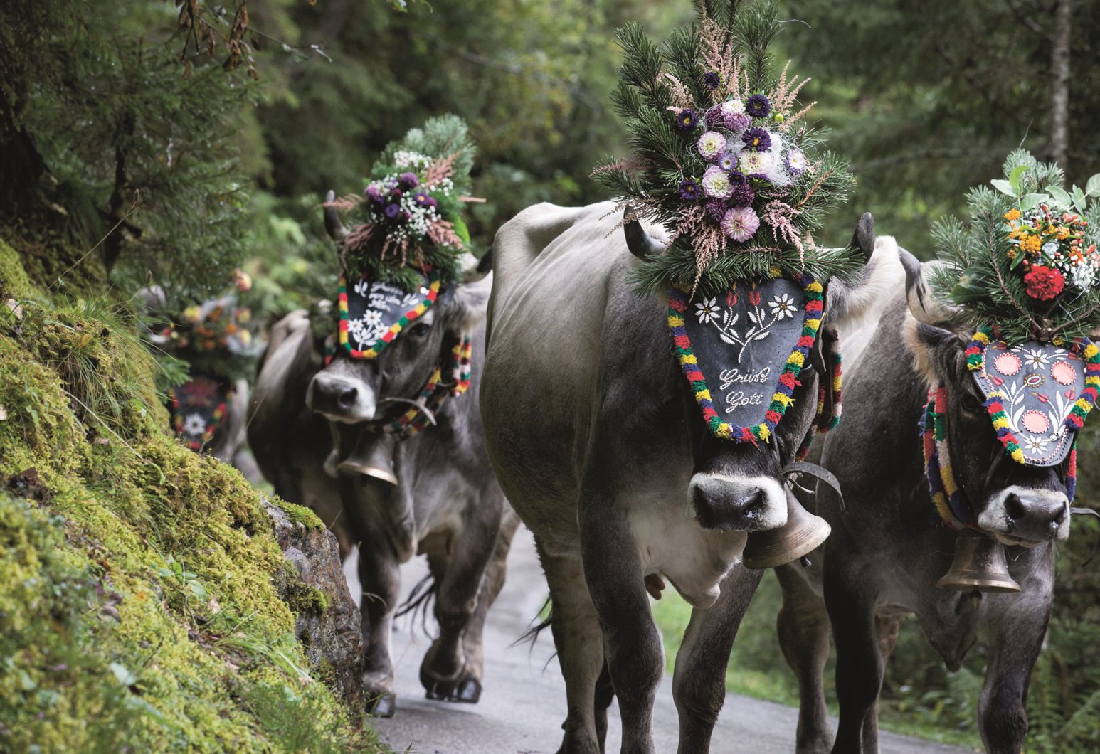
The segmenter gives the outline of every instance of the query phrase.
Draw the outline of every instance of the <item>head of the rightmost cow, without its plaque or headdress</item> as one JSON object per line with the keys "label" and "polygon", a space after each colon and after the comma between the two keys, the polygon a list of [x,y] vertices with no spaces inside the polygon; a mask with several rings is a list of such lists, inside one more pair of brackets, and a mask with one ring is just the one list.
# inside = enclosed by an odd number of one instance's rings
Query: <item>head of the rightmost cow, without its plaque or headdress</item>
{"label": "head of the rightmost cow, without its plaque or headdress", "polygon": [[922,265],[901,251],[912,318],[905,340],[917,372],[930,386],[947,388],[947,445],[955,480],[974,508],[978,526],[1003,544],[1036,546],[1069,535],[1068,459],[1054,466],[1024,465],[1005,455],[986,397],[967,367],[975,328],[936,298]]}

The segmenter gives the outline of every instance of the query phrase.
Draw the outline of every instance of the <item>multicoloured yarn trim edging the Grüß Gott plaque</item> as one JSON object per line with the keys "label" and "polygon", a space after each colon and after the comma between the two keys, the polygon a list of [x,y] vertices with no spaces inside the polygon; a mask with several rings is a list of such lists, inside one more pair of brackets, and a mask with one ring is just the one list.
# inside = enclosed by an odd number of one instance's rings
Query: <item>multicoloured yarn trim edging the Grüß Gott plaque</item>
{"label": "multicoloured yarn trim edging the Gr\u00fc\u00df Gott plaque", "polygon": [[802,286],[806,297],[802,319],[802,336],[783,365],[783,372],[779,376],[779,384],[771,397],[768,411],[765,413],[765,420],[752,426],[739,426],[724,422],[718,412],[714,410],[711,390],[707,388],[703,373],[698,369],[695,354],[692,352],[691,337],[689,337],[688,329],[684,326],[684,312],[688,311],[690,289],[688,287],[669,289],[669,330],[672,333],[676,359],[691,385],[695,402],[703,411],[703,421],[714,436],[721,440],[732,440],[735,443],[756,444],[761,440],[768,442],[779,420],[787,412],[787,407],[794,402],[791,393],[794,392],[794,387],[799,384],[799,374],[810,356],[810,350],[814,346],[825,306],[822,284],[805,274],[799,276],[796,282]]}

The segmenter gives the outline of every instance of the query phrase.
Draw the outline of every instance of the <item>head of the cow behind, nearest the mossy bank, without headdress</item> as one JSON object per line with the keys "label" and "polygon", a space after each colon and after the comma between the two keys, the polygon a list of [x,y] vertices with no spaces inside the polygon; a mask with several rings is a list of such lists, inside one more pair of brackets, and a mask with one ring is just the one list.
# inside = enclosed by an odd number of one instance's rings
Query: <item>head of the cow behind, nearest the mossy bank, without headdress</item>
{"label": "head of the cow behind, nearest the mossy bank, without headdress", "polygon": [[[332,197],[330,191],[329,200]],[[348,233],[331,208],[324,209],[324,225],[338,243]],[[446,356],[444,351],[485,319],[492,275],[487,264],[479,265],[466,256],[463,281],[453,295],[441,292],[436,304],[376,357],[351,358],[337,350],[333,359],[310,381],[307,406],[342,424],[394,419],[406,411]]]}

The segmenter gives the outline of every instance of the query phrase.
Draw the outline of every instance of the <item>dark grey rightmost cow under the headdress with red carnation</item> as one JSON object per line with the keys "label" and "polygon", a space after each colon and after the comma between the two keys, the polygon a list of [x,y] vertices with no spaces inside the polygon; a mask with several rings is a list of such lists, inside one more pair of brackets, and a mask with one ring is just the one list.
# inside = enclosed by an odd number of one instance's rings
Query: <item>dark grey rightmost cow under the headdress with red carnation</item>
{"label": "dark grey rightmost cow under the headdress with red carnation", "polygon": [[[880,243],[883,240],[880,239]],[[890,242],[893,244],[893,242]],[[846,362],[839,428],[814,454],[836,475],[843,500],[818,485],[816,512],[833,526],[813,567],[777,569],[783,589],[780,644],[799,678],[798,752],[878,752],[877,703],[887,657],[901,622],[916,616],[952,670],[988,635],[989,659],[978,707],[987,751],[1016,753],[1027,732],[1032,667],[1050,616],[1055,542],[1069,534],[1066,465],[1008,461],[967,368],[976,326],[939,301],[922,266],[900,250],[906,271],[870,343]],[[949,396],[946,426],[954,476],[985,534],[1007,547],[1016,594],[937,586],[948,573],[956,533],[930,492],[919,422],[928,387]],[[813,457],[813,456],[812,456]],[[832,625],[840,720],[835,743],[826,719],[823,669]]]}

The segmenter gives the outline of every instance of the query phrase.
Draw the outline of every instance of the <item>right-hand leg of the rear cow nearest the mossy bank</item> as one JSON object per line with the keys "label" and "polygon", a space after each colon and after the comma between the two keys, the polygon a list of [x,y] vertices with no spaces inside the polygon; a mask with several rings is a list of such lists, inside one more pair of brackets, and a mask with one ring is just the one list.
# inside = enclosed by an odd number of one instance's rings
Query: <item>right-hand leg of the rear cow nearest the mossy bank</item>
{"label": "right-hand leg of the rear cow nearest the mossy bank", "polygon": [[[452,542],[450,562],[436,594],[439,639],[420,664],[420,683],[429,699],[475,702],[481,696],[481,679],[466,667],[462,637],[477,607],[501,526],[504,496],[497,491],[495,497],[483,496],[466,508],[462,531]],[[460,691],[468,698],[460,699]]]}

